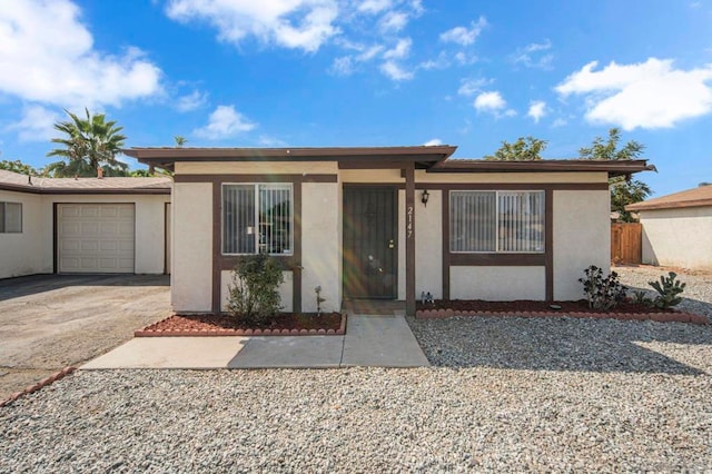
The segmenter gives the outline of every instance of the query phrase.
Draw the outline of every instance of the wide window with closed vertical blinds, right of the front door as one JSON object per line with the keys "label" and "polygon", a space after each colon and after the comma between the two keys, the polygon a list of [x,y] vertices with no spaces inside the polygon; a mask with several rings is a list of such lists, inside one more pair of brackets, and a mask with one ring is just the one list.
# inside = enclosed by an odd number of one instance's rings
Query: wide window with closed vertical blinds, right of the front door
{"label": "wide window with closed vertical blinds, right of the front door", "polygon": [[544,191],[451,191],[455,253],[544,251]]}

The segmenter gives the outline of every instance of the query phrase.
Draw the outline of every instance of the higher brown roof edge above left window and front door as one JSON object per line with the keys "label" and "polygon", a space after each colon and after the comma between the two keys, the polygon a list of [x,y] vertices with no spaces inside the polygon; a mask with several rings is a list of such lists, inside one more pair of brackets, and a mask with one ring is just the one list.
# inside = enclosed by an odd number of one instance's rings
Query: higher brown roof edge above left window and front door
{"label": "higher brown roof edge above left window and front door", "polygon": [[125,155],[140,162],[174,169],[177,161],[414,161],[429,168],[455,152],[449,145],[415,147],[325,148],[129,148]]}

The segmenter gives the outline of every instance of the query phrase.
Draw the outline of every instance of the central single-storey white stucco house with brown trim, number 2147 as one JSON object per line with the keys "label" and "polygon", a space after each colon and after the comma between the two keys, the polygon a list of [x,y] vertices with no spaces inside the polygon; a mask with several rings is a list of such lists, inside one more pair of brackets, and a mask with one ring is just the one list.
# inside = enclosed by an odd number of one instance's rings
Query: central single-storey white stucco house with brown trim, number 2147
{"label": "central single-storey white stucco house with brown trim, number 2147", "polygon": [[578,299],[610,263],[609,178],[644,160],[485,161],[451,146],[132,148],[175,171],[172,305],[225,308],[230,270],[265,251],[285,310],[345,298]]}

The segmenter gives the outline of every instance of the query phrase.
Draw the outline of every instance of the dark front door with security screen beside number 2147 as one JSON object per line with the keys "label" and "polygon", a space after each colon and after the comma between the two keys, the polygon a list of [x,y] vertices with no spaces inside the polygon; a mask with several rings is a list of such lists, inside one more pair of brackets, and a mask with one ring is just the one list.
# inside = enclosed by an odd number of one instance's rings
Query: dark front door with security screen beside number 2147
{"label": "dark front door with security screen beside number 2147", "polygon": [[344,187],[344,296],[397,297],[398,194],[393,187]]}

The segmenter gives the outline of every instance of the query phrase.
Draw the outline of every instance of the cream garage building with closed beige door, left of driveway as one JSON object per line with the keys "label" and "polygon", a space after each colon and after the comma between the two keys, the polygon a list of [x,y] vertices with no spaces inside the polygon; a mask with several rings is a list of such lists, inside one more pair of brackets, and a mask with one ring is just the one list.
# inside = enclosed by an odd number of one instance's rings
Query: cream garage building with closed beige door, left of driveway
{"label": "cream garage building with closed beige door, left of driveway", "polygon": [[162,274],[170,178],[38,178],[0,170],[0,278]]}

